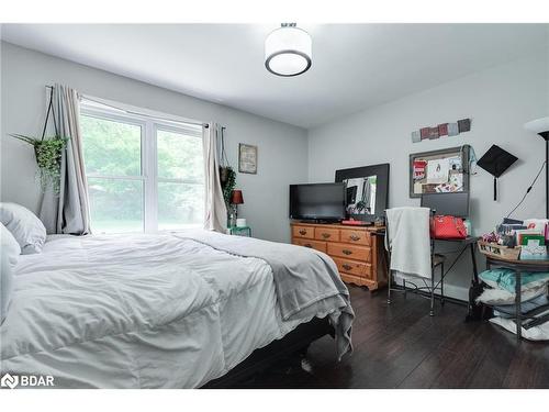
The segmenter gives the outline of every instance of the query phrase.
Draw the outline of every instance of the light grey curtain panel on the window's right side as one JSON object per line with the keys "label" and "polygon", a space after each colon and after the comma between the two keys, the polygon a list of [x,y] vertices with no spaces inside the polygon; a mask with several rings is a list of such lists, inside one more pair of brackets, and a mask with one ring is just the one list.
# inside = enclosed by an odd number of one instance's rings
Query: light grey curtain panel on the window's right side
{"label": "light grey curtain panel on the window's right side", "polygon": [[205,219],[204,229],[225,233],[227,230],[227,208],[223,199],[220,181],[220,162],[217,158],[217,136],[221,126],[209,123],[202,129],[205,164]]}

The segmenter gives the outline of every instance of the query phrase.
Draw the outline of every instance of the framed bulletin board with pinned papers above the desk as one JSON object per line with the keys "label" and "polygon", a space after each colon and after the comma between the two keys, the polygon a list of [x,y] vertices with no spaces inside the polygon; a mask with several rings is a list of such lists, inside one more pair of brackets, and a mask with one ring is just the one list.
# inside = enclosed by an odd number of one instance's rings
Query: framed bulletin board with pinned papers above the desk
{"label": "framed bulletin board with pinned papers above the desk", "polygon": [[469,191],[469,145],[410,155],[410,197]]}

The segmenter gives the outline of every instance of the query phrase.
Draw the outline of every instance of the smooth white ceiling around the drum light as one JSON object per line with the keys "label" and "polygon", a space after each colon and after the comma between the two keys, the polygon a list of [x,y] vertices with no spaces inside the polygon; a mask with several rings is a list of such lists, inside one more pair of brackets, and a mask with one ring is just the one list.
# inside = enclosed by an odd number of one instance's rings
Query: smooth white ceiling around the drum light
{"label": "smooth white ceiling around the drum light", "polygon": [[2,37],[303,127],[519,58],[549,38],[547,24],[301,26],[313,66],[294,78],[265,69],[276,24],[4,24]]}

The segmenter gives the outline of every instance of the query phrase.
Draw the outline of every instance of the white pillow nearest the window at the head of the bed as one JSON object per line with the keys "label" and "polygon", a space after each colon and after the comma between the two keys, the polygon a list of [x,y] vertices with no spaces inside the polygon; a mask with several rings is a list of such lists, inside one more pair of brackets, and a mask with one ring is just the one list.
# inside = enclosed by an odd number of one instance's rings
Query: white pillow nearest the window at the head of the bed
{"label": "white pillow nearest the window at the head of the bed", "polygon": [[15,237],[23,255],[42,252],[46,227],[29,209],[15,203],[0,203],[0,223]]}

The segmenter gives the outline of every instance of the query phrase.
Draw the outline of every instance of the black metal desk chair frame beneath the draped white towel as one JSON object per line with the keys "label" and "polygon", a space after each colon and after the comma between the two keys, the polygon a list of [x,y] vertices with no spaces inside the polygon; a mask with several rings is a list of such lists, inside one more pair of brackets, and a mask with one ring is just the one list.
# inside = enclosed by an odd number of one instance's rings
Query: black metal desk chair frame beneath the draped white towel
{"label": "black metal desk chair frame beneath the draped white towel", "polygon": [[[434,211],[430,211],[430,214],[434,215]],[[395,289],[391,288],[392,283],[392,277],[393,277],[393,270],[391,270],[391,240],[389,238],[389,219],[386,218],[385,213],[385,245],[388,246],[388,253],[389,253],[389,276],[388,276],[388,290],[386,290],[386,303],[391,304],[391,292],[403,292],[404,297],[406,297],[406,291],[408,290],[406,283],[411,283],[413,288],[411,288],[411,291],[414,293],[417,293],[422,297],[426,297],[430,299],[430,310],[429,310],[429,316],[435,315],[435,291],[440,290],[440,305],[444,307],[445,304],[445,296],[444,296],[444,279],[445,279],[445,260],[446,257],[444,255],[439,255],[435,253],[435,241],[430,238],[430,285],[427,283],[427,280],[422,277],[417,277],[418,281],[423,281],[424,286],[417,286],[414,283],[414,281],[411,281],[410,279],[406,281],[405,277],[403,276],[402,278],[402,289]],[[435,272],[436,268],[440,268],[440,280],[435,283]],[[407,276],[407,275],[405,275]],[[415,278],[414,278],[415,280]],[[427,296],[425,293],[422,293],[424,291],[427,291]]]}

